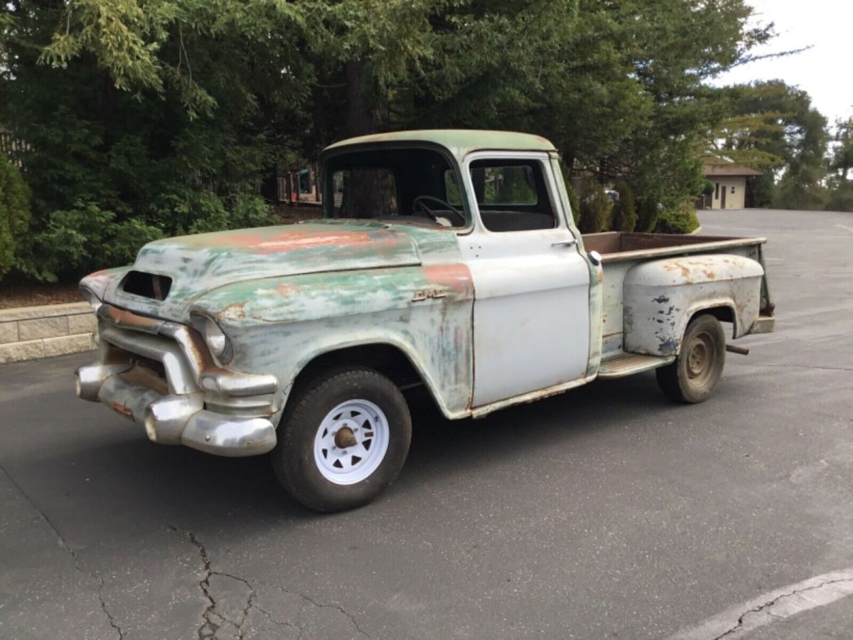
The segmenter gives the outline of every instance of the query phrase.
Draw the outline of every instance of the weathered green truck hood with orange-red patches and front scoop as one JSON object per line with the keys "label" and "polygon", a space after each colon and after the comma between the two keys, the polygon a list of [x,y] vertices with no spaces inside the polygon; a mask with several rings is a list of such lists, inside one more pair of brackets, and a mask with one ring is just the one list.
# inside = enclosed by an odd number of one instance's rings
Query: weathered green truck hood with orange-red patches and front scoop
{"label": "weathered green truck hood with orange-red patches and front scoop", "polygon": [[[187,322],[193,300],[226,284],[324,271],[421,265],[421,253],[456,245],[452,232],[409,224],[338,221],[181,236],[150,242],[132,271],[171,278],[165,300],[130,294],[117,277],[104,300]],[[455,247],[454,247],[455,248]]]}

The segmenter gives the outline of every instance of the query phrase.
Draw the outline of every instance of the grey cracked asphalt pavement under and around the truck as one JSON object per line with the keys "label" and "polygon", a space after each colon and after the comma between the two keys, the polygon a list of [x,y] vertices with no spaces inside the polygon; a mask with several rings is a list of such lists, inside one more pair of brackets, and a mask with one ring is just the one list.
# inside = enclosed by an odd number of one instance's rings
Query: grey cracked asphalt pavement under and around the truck
{"label": "grey cracked asphalt pavement under and around the truck", "polygon": [[479,421],[416,402],[349,513],[79,401],[90,355],[3,365],[0,637],[853,637],[853,215],[700,217],[769,239],[778,318],[711,400],[647,373]]}

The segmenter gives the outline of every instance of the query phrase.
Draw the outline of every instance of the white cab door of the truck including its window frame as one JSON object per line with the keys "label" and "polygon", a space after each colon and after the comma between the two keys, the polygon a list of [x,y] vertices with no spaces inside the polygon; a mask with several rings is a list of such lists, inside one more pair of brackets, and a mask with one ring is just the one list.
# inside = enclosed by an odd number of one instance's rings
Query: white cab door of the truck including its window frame
{"label": "white cab door of the truck including its window frame", "polygon": [[[497,155],[509,156],[476,157]],[[478,219],[459,238],[474,282],[474,407],[583,378],[589,362],[589,266],[572,244],[548,155],[511,157],[541,160],[559,226],[492,233]]]}

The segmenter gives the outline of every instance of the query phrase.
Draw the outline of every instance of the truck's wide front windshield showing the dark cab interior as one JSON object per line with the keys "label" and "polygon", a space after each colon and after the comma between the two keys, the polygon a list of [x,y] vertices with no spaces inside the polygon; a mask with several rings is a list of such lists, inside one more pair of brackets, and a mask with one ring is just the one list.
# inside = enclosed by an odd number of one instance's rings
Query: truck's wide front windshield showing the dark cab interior
{"label": "truck's wide front windshield showing the dark cab interior", "polygon": [[456,170],[425,148],[341,154],[328,160],[323,183],[326,218],[467,226]]}

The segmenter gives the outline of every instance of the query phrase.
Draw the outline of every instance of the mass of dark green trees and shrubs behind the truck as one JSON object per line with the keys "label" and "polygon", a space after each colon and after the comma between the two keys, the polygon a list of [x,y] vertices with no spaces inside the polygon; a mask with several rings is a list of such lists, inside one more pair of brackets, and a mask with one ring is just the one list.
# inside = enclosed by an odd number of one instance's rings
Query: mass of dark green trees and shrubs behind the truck
{"label": "mass of dark green trees and shrubs behind the truck", "polygon": [[584,230],[691,230],[709,153],[778,172],[771,201],[828,201],[808,96],[708,84],[772,38],[751,13],[745,0],[9,0],[0,127],[17,143],[0,179],[17,186],[0,198],[0,274],[71,278],[160,236],[270,224],[276,176],[374,131],[548,137],[566,177],[587,177],[572,194]]}

